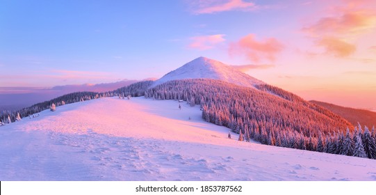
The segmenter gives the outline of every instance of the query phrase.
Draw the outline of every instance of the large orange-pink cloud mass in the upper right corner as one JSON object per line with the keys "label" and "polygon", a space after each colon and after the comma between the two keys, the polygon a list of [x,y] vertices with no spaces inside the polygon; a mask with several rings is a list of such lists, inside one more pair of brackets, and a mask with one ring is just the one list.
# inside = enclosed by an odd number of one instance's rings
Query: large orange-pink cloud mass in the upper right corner
{"label": "large orange-pink cloud mass in the upper right corner", "polygon": [[325,54],[348,57],[356,51],[357,39],[376,28],[376,13],[365,8],[369,1],[344,1],[343,6],[331,8],[321,17],[302,28]]}

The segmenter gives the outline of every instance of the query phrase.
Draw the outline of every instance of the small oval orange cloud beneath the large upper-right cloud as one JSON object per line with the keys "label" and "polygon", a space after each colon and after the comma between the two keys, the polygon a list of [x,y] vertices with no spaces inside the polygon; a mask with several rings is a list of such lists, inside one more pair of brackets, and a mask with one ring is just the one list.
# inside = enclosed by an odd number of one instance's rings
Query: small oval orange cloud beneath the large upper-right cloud
{"label": "small oval orange cloud beneath the large upper-right cloud", "polygon": [[326,54],[331,54],[336,57],[350,56],[356,50],[355,45],[337,38],[322,38],[321,40],[318,40],[317,44],[325,47]]}

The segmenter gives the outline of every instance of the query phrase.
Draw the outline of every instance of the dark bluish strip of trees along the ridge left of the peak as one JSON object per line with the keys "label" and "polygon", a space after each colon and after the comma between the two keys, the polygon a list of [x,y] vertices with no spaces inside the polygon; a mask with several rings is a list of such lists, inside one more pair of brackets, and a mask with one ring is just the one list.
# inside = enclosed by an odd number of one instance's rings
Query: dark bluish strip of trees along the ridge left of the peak
{"label": "dark bluish strip of trees along the ridge left of the peak", "polygon": [[[62,95],[58,98],[54,98],[49,101],[40,102],[34,104],[31,107],[26,107],[24,109],[19,109],[16,111],[1,111],[0,114],[0,126],[5,125],[6,123],[13,123],[21,118],[33,116],[34,114],[50,109],[52,104],[55,104],[56,107],[62,106],[64,104],[72,104],[74,102],[83,102],[86,100],[92,100],[97,98],[104,97],[113,97],[117,95],[131,95],[133,97],[142,96],[145,94],[146,89],[152,84],[153,81],[140,81],[129,86],[119,88],[114,91],[108,91],[104,93],[95,93],[95,92],[76,92],[69,93],[67,95]],[[124,96],[123,96],[124,97]]]}

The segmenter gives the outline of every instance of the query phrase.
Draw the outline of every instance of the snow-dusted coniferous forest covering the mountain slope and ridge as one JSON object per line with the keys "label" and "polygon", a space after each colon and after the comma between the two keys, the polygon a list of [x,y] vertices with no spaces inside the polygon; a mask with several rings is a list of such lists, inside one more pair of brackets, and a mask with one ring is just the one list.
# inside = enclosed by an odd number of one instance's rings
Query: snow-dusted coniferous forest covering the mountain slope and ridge
{"label": "snow-dusted coniferous forest covering the mountain slope and ridge", "polygon": [[199,105],[204,120],[229,127],[239,134],[239,141],[253,139],[270,146],[376,159],[375,127],[354,127],[341,116],[281,88],[268,84],[248,88],[214,79],[168,81],[149,88],[152,83],[140,81],[106,93],[70,93],[17,111],[3,111],[0,125],[35,117],[52,104],[59,107],[103,97],[145,95]]}

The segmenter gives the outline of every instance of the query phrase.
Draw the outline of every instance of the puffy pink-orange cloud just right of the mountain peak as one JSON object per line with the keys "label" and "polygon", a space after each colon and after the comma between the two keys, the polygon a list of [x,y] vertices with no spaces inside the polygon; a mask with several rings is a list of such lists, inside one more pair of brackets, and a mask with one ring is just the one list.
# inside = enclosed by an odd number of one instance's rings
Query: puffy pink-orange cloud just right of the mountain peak
{"label": "puffy pink-orange cloud just right of the mountain peak", "polygon": [[229,54],[245,55],[247,59],[257,63],[263,59],[275,61],[275,55],[282,49],[284,49],[284,45],[275,38],[256,40],[254,34],[249,34],[238,42],[231,43]]}

